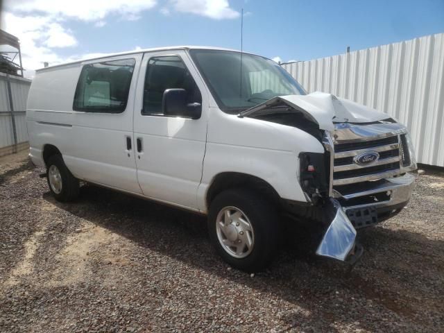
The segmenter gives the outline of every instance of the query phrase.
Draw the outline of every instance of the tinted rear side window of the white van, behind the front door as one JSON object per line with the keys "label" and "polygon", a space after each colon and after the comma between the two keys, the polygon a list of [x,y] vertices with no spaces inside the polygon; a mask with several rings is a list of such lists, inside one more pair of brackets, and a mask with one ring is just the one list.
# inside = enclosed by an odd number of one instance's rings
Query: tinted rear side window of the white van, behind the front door
{"label": "tinted rear side window of the white van, behind the front door", "polygon": [[73,109],[86,112],[123,112],[128,103],[134,59],[84,65],[78,78]]}

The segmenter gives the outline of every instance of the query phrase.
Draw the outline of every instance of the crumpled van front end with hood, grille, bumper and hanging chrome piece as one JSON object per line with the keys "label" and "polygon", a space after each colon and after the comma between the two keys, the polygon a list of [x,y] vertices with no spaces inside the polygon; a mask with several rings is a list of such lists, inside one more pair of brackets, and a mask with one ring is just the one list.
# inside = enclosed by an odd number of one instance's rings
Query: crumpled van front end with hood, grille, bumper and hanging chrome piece
{"label": "crumpled van front end with hood, grille, bumper and hanging chrome piece", "polygon": [[413,146],[407,128],[386,114],[313,93],[275,97],[239,117],[292,126],[323,144],[323,153],[298,153],[307,203],[284,203],[293,219],[321,227],[317,255],[355,264],[363,253],[356,230],[398,214],[411,197]]}

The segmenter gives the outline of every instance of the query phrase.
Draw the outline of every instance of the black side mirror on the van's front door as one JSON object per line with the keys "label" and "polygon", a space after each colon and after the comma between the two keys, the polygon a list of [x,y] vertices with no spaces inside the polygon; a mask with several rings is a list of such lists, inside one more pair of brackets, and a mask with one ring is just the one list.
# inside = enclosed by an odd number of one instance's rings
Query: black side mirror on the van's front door
{"label": "black side mirror on the van's front door", "polygon": [[187,103],[185,89],[167,89],[162,96],[162,112],[166,116],[198,119],[202,113],[202,105]]}

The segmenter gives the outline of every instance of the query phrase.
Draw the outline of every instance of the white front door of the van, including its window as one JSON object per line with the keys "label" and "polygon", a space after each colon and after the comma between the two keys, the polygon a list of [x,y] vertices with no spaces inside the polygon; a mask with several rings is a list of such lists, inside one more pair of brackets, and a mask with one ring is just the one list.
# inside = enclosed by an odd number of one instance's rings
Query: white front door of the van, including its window
{"label": "white front door of the van, including its window", "polygon": [[[202,105],[199,119],[162,113],[163,93],[173,88],[185,89],[190,105]],[[134,115],[137,178],[144,195],[197,210],[208,104],[205,86],[185,51],[144,54]]]}

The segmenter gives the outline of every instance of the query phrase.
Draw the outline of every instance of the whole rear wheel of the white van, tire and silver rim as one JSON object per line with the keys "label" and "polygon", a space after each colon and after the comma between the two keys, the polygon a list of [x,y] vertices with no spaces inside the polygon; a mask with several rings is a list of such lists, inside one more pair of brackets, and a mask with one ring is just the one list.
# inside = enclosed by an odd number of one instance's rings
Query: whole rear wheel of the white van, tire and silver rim
{"label": "whole rear wheel of the white van, tire and silver rim", "polygon": [[68,170],[61,155],[52,155],[46,163],[49,189],[56,200],[72,201],[78,197],[80,184]]}

